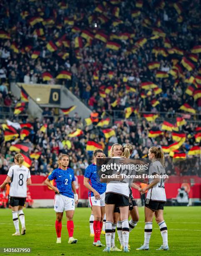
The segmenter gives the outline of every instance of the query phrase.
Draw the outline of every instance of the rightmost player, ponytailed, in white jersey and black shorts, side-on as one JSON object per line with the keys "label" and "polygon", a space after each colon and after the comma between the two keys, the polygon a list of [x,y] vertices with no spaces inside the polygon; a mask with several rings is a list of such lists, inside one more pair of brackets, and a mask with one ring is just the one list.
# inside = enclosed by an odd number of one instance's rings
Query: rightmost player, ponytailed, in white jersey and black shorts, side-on
{"label": "rightmost player, ponytailed, in white jersey and black shorts, side-on", "polygon": [[[166,202],[166,192],[164,187],[164,154],[161,148],[153,146],[149,149],[148,158],[151,160],[149,167],[149,184],[146,188],[141,189],[141,193],[145,193],[148,189],[146,202],[144,207],[145,212],[145,230],[144,230],[144,244],[136,249],[138,251],[149,249],[149,240],[152,233],[152,221],[155,215],[156,222],[161,230],[163,238],[163,245],[157,251],[167,251],[168,247],[168,229],[163,219],[163,207]],[[155,176],[155,177],[154,177]]]}

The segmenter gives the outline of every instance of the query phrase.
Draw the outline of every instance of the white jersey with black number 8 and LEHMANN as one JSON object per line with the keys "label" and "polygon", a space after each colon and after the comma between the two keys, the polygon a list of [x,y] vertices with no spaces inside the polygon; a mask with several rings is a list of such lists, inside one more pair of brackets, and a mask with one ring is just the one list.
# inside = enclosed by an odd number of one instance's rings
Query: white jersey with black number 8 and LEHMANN
{"label": "white jersey with black number 8 and LEHMANN", "polygon": [[27,179],[31,177],[29,169],[15,164],[10,167],[7,175],[11,177],[10,197],[27,197]]}

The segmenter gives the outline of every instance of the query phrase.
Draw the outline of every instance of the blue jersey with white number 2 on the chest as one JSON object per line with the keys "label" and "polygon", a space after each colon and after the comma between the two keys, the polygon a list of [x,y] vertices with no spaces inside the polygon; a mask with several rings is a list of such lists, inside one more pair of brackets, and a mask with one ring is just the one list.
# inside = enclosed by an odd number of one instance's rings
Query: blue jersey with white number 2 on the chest
{"label": "blue jersey with white number 2 on the chest", "polygon": [[75,181],[74,171],[71,168],[67,170],[55,169],[49,176],[49,180],[55,180],[56,187],[58,188],[61,195],[66,197],[74,198],[72,190],[72,182]]}

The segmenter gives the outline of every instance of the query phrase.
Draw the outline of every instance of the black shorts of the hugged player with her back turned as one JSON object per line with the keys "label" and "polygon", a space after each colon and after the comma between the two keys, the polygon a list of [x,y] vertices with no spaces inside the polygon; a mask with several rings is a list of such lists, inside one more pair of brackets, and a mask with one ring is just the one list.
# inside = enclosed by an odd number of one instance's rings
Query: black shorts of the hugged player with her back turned
{"label": "black shorts of the hugged player with her back turned", "polygon": [[115,205],[115,207],[124,207],[129,205],[129,197],[108,192],[106,193],[105,203],[108,205]]}

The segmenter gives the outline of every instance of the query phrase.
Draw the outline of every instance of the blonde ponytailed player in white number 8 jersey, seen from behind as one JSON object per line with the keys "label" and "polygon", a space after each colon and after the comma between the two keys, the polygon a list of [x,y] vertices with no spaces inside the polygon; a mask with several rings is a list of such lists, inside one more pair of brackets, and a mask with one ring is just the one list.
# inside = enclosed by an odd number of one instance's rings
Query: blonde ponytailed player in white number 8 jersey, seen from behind
{"label": "blonde ponytailed player in white number 8 jersey, seen from behind", "polygon": [[29,169],[23,165],[24,158],[22,154],[16,154],[14,157],[15,165],[11,166],[0,188],[4,188],[10,181],[9,205],[13,213],[13,223],[15,233],[13,236],[20,236],[19,220],[22,225],[21,235],[25,235],[25,215],[23,207],[27,197],[27,185],[31,184],[31,175]]}

